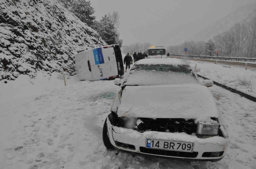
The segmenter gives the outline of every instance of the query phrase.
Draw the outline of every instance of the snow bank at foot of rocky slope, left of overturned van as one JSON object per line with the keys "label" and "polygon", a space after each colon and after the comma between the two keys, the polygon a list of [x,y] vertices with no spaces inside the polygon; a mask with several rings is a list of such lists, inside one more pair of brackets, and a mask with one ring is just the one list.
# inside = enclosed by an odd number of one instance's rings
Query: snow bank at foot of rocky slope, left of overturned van
{"label": "snow bank at foot of rocky slope, left of overturned van", "polygon": [[[77,76],[69,77],[66,73],[67,86],[77,81],[79,81]],[[35,79],[21,74],[15,81],[9,81],[8,83],[0,81],[0,115],[5,113],[7,109],[41,99],[42,96],[40,95],[48,90],[64,87],[62,74],[58,72],[46,74],[39,71]]]}

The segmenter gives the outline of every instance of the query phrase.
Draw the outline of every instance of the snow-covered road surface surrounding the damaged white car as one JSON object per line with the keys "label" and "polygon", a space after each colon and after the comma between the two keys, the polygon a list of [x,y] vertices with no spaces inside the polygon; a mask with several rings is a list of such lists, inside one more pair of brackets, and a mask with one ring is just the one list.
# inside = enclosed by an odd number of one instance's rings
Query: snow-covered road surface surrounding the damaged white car
{"label": "snow-covered road surface surrounding the damaged white car", "polygon": [[256,168],[256,104],[217,86],[210,89],[231,136],[221,161],[183,162],[107,151],[102,127],[119,89],[113,82],[79,81],[1,112],[0,168]]}

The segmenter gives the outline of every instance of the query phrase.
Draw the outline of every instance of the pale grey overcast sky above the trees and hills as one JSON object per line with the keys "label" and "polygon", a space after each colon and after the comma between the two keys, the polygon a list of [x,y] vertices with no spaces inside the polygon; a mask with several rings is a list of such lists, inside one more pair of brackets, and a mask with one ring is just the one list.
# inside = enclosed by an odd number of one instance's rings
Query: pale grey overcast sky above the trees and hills
{"label": "pale grey overcast sky above the trees and hills", "polygon": [[[255,0],[91,0],[97,20],[108,12],[120,14],[124,45],[150,42],[175,45],[193,37],[239,6]],[[166,36],[168,34],[168,36]]]}

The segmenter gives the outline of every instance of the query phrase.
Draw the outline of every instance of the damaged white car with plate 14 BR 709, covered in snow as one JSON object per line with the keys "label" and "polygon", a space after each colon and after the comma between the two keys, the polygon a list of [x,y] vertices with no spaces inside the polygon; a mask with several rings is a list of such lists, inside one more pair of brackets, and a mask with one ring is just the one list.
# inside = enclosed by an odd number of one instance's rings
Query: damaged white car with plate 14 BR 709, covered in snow
{"label": "damaged white car with plate 14 BR 709, covered in snow", "polygon": [[108,149],[170,158],[218,161],[228,147],[227,124],[214,97],[180,59],[143,59],[121,83],[103,127]]}

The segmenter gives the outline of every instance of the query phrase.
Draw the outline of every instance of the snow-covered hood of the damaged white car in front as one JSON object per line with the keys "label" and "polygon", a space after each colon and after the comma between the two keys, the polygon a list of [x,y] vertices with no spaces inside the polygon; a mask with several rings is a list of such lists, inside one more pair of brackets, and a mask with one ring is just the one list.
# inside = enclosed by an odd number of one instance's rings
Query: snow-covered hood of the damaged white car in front
{"label": "snow-covered hood of the damaged white car in front", "polygon": [[199,84],[126,86],[118,116],[206,119],[219,113],[211,91]]}

